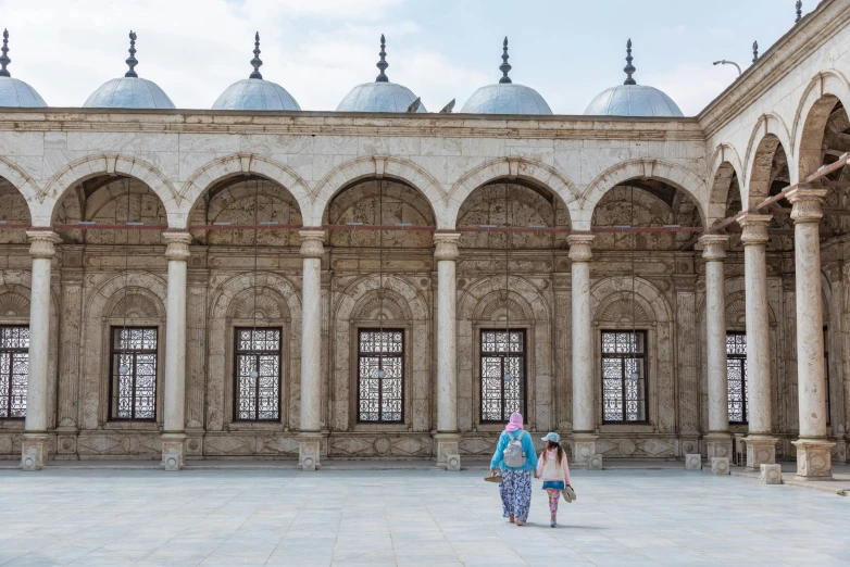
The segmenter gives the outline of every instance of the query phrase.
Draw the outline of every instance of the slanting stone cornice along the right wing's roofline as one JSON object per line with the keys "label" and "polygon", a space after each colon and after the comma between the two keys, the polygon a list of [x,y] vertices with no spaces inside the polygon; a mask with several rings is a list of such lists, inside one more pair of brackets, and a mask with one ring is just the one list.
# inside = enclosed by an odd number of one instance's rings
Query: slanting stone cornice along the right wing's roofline
{"label": "slanting stone cornice along the right wing's roofline", "polygon": [[[824,0],[697,115],[710,138],[850,23],[850,2]],[[807,77],[808,79],[808,77]]]}

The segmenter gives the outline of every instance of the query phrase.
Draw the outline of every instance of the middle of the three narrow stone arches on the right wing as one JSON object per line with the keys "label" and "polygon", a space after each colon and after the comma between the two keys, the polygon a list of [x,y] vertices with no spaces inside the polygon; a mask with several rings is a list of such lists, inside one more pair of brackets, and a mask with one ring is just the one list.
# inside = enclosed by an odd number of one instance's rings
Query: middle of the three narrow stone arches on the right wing
{"label": "middle of the three narrow stone arches on the right wing", "polygon": [[797,182],[797,163],[792,160],[791,138],[785,122],[773,113],[762,114],[750,134],[747,144],[747,159],[745,161],[745,174],[741,181],[741,203],[751,207],[770,193],[771,164],[773,154],[778,144],[782,144],[788,158],[788,175],[790,182]]}

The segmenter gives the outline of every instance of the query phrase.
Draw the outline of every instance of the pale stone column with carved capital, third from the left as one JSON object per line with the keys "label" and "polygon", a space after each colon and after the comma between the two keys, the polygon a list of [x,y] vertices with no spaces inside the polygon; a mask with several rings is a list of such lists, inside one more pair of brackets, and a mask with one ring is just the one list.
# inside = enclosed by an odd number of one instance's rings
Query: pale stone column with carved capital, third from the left
{"label": "pale stone column with carved capital, third from the left", "polygon": [[322,449],[322,257],[325,232],[305,229],[301,236],[304,274],[301,289],[301,427],[298,464],[302,470],[320,466]]}

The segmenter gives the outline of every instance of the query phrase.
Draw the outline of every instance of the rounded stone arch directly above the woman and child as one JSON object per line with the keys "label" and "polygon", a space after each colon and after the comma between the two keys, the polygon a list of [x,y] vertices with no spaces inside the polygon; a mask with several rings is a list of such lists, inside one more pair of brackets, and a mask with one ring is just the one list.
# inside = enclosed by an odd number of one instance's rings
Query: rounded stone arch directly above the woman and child
{"label": "rounded stone arch directly above the woman and child", "polygon": [[478,187],[497,179],[509,181],[523,179],[541,185],[560,198],[567,211],[570,211],[570,203],[578,200],[578,191],[573,182],[553,167],[528,158],[499,158],[466,173],[452,186],[446,207],[446,220],[449,224],[438,228],[454,228],[458,224],[458,214],[466,198]]}

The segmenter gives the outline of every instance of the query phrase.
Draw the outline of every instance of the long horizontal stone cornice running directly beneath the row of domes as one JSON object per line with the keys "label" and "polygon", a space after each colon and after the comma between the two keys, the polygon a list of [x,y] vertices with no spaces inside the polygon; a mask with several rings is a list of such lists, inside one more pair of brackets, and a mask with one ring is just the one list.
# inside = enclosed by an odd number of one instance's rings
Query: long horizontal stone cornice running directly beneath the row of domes
{"label": "long horizontal stone cornice running directly beneath the row of domes", "polygon": [[200,110],[110,111],[3,109],[2,131],[92,131],[300,136],[380,136],[551,140],[691,140],[705,138],[696,118],[507,116],[336,112],[227,113]]}

